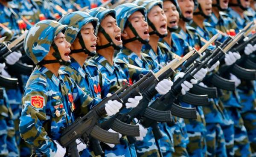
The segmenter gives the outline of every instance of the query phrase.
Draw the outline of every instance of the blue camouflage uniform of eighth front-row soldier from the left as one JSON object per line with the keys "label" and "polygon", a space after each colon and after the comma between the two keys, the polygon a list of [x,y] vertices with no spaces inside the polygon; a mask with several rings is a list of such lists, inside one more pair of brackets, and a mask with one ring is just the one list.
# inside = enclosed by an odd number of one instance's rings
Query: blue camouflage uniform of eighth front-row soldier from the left
{"label": "blue camouflage uniform of eighth front-row soldier from the left", "polygon": [[[199,27],[195,22],[192,22],[190,26],[196,29],[196,32],[205,40],[209,41],[209,39],[218,33],[218,31],[212,27],[209,23],[204,22],[204,28]],[[219,35],[218,41],[223,42],[226,37]],[[206,142],[207,142],[207,155],[209,156],[227,156],[226,147],[225,147],[225,138],[223,130],[221,129],[221,124],[224,123],[224,113],[220,107],[223,105],[220,102],[219,98],[209,99],[210,105],[204,106],[204,116],[206,121]]]}

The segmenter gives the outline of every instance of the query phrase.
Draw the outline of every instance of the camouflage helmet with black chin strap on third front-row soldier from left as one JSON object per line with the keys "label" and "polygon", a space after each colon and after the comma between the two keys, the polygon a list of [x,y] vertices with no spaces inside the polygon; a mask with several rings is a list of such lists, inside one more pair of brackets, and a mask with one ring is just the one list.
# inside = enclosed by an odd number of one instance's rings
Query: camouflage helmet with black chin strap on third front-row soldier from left
{"label": "camouflage helmet with black chin strap on third front-row soldier from left", "polygon": [[[103,7],[97,7],[97,8],[90,9],[88,11],[88,14],[91,15],[92,17],[96,17],[99,19],[98,32],[102,32],[102,34],[105,36],[105,38],[109,42],[108,44],[105,44],[102,46],[96,45],[96,48],[97,49],[105,49],[107,47],[113,47],[116,50],[120,50],[122,48],[122,45],[115,45],[113,43],[112,39],[110,38],[110,36],[105,32],[105,30],[100,25],[102,20],[104,20],[104,18],[108,15],[111,15],[114,19],[116,19],[116,11],[114,9],[106,9]],[[96,32],[96,34],[98,34],[98,32]]]}

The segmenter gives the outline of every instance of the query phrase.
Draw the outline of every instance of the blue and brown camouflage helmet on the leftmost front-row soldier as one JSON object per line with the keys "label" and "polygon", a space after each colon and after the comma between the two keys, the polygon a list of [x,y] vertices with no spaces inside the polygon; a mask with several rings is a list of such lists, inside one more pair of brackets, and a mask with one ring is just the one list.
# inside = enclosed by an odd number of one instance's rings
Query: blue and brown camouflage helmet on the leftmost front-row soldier
{"label": "blue and brown camouflage helmet on the leftmost front-row soldier", "polygon": [[66,29],[67,25],[62,25],[54,20],[42,20],[36,23],[29,29],[24,39],[26,54],[35,64],[43,61],[54,43],[54,38]]}

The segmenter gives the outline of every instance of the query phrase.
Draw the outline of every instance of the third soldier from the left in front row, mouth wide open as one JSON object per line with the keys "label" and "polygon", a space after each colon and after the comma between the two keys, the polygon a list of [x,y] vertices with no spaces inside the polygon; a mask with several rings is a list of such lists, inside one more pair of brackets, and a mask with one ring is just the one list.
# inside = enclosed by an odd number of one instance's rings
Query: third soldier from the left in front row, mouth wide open
{"label": "third soldier from the left in front row, mouth wide open", "polygon": [[[95,8],[91,9],[89,11],[89,14],[92,15],[93,17],[97,17],[99,19],[99,31],[97,34],[97,38],[99,41],[97,41],[97,55],[93,58],[91,58],[90,61],[93,62],[93,64],[96,64],[99,70],[105,74],[112,82],[115,82],[119,86],[122,86],[121,81],[123,79],[129,80],[129,82],[132,84],[133,81],[138,79],[138,74],[142,73],[143,71],[139,70],[140,68],[135,67],[137,70],[134,72],[135,68],[128,68],[128,65],[123,62],[122,60],[119,59],[114,59],[113,54],[114,50],[120,50],[122,48],[122,40],[121,40],[121,31],[118,26],[116,26],[116,12],[115,10],[110,10],[110,9],[104,9],[104,8]],[[148,71],[146,71],[148,72]],[[156,87],[157,91],[159,92],[168,92],[170,89],[170,86],[168,82],[166,81],[161,81]],[[161,87],[166,87],[166,89],[159,88]],[[141,128],[142,125],[139,124]],[[146,138],[146,137],[145,137]],[[143,139],[143,138],[140,138]],[[148,138],[147,138],[148,139]],[[127,140],[124,138],[124,141],[127,142]],[[148,139],[148,144],[147,146],[151,147],[151,150],[149,150],[150,154],[157,155],[157,147],[155,145],[154,139]],[[137,144],[137,143],[136,143]],[[131,149],[134,146],[130,145]],[[123,149],[119,150],[111,150],[111,149],[106,149],[107,152],[113,152],[115,155],[122,155],[124,152],[119,152],[122,151]],[[136,156],[136,152],[134,150],[131,154],[131,156]],[[143,151],[143,150],[140,150]],[[152,151],[154,153],[152,153]],[[137,151],[138,152],[138,151]],[[144,152],[141,152],[144,154]],[[105,155],[107,155],[105,153]],[[137,155],[141,155],[140,153]]]}

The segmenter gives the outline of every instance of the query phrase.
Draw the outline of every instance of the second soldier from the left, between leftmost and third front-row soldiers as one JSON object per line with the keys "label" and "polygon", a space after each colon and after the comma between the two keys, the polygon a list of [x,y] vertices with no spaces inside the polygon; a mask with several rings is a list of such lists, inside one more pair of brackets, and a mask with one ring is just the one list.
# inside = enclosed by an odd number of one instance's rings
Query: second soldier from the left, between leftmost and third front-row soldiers
{"label": "second soldier from the left, between leftmost and third front-row soldiers", "polygon": [[[67,41],[72,43],[72,63],[69,67],[62,67],[61,69],[69,73],[79,87],[85,92],[89,91],[88,94],[91,96],[105,98],[110,88],[113,93],[118,87],[115,87],[115,84],[112,85],[111,81],[102,75],[95,65],[90,62],[84,64],[88,56],[92,57],[96,53],[94,30],[96,30],[97,21],[97,18],[91,17],[85,12],[72,12],[61,18],[60,22],[68,25],[65,32]],[[138,96],[129,98],[126,108],[136,107],[139,103],[138,98]]]}

